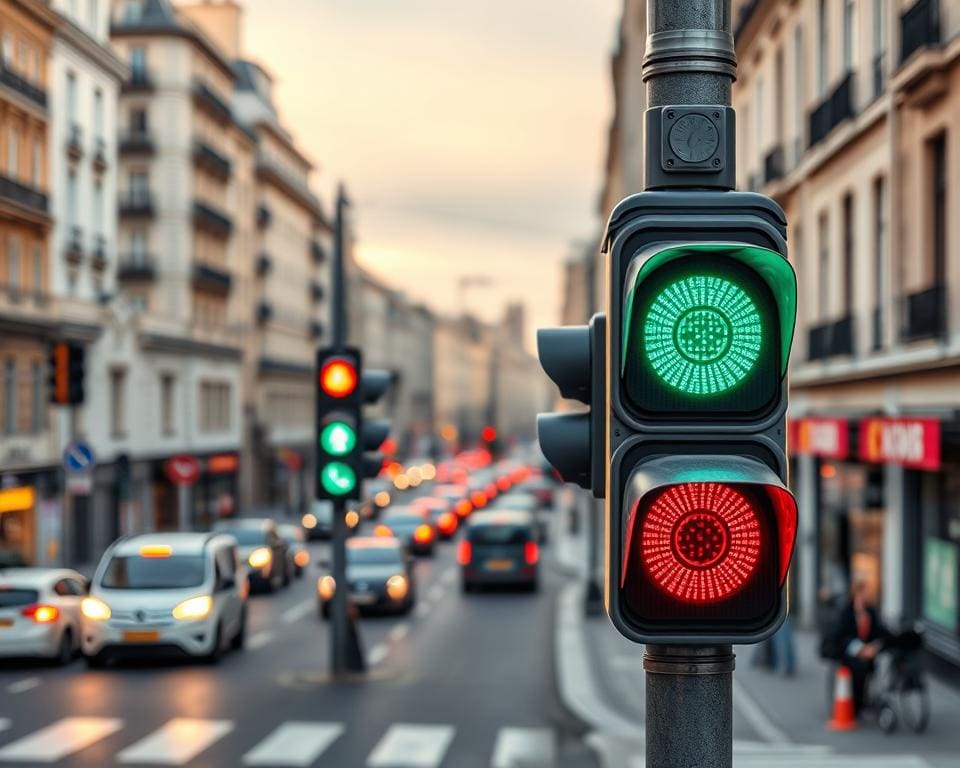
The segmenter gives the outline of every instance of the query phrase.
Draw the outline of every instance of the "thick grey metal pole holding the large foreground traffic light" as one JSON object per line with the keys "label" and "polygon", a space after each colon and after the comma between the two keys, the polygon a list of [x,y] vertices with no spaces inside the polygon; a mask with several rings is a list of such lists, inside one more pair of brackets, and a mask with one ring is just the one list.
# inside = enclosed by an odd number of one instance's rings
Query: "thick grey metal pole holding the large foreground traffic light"
{"label": "thick grey metal pole holding the large foreground traffic light", "polygon": [[[731,104],[736,54],[730,0],[650,0],[643,79],[647,107]],[[652,122],[652,121],[651,121]],[[670,173],[670,136],[652,137],[648,123],[646,188],[689,189],[691,179]],[[732,142],[731,142],[732,144]],[[728,144],[728,147],[730,144]],[[674,153],[682,147],[674,146]],[[728,150],[729,152],[730,150]],[[731,173],[735,158],[726,158]],[[729,176],[720,179],[729,188]],[[703,189],[702,178],[694,183]],[[733,668],[731,645],[647,645],[647,768],[731,768]]]}

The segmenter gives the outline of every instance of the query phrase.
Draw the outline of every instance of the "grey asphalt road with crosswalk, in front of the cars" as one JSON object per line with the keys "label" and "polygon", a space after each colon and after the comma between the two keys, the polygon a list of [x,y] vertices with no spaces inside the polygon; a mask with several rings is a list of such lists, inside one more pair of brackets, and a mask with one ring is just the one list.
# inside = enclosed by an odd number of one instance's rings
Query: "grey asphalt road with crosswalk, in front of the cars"
{"label": "grey asphalt road with crosswalk, in front of the cars", "polygon": [[[314,560],[327,545],[313,544]],[[549,555],[545,557],[549,560]],[[454,545],[416,565],[407,617],[361,621],[370,672],[327,674],[311,566],[253,596],[247,649],[219,666],[0,667],[0,763],[588,766],[552,674],[560,577],[536,594],[463,595]]]}

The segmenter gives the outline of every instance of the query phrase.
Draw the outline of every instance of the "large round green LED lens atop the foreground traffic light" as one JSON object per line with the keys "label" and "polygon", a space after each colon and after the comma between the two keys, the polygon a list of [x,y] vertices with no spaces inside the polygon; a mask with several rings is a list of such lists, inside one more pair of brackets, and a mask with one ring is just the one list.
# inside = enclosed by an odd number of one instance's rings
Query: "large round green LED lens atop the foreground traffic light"
{"label": "large round green LED lens atop the foreground traffic light", "polygon": [[757,307],[740,286],[693,275],[664,288],[643,321],[643,348],[663,382],[690,395],[736,386],[763,341]]}

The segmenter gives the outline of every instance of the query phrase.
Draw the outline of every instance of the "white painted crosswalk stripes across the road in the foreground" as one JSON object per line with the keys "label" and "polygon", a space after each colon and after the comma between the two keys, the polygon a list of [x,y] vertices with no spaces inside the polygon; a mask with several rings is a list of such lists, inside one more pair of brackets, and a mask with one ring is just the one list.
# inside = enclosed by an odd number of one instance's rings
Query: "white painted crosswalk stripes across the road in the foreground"
{"label": "white painted crosswalk stripes across the road in the foreground", "polygon": [[[225,765],[235,765],[235,755],[239,754],[244,766],[309,768],[330,764],[324,762],[325,753],[350,738],[344,723],[302,720],[280,723],[256,743],[251,743],[256,735],[252,738],[249,729],[241,729],[234,721],[225,719],[175,717],[145,736],[138,732],[124,739],[127,726],[122,718],[65,717],[10,740],[9,732],[16,731],[16,718],[0,718],[0,764],[72,764],[72,756],[113,737],[109,745],[117,746],[117,751],[110,763],[123,766],[191,765],[201,755],[209,756],[212,764],[219,764],[218,753],[211,750],[236,739],[239,743],[234,757]],[[456,727],[449,724],[393,723],[372,743],[362,765],[457,765],[456,736]],[[97,756],[104,759],[102,751]],[[511,726],[497,731],[489,764],[490,768],[551,768],[556,765],[556,756],[556,735],[551,729]]]}

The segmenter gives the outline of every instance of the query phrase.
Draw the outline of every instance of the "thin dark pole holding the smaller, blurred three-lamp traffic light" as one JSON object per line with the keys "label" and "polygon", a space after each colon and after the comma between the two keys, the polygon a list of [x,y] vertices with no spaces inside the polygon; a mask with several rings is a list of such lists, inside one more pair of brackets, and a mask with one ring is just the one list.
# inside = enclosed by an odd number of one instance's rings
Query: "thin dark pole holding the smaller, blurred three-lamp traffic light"
{"label": "thin dark pole holding the smaller, blurred three-lamp traffic light", "polygon": [[[333,348],[343,351],[347,343],[347,290],[344,272],[344,213],[348,205],[341,184],[337,189],[337,212],[333,230],[333,263],[331,264],[331,332]],[[319,446],[317,447],[319,450]],[[330,604],[330,672],[334,676],[363,672],[366,664],[359,628],[350,616],[347,605],[347,502],[334,499],[333,504],[333,579],[336,584]]]}

